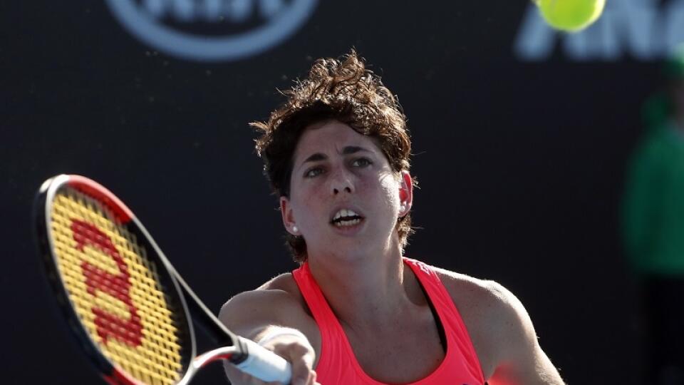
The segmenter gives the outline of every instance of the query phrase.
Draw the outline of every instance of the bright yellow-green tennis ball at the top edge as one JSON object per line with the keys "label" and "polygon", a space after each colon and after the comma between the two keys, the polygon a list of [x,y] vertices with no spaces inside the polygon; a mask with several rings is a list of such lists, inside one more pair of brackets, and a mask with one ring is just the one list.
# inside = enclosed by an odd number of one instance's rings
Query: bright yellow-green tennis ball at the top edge
{"label": "bright yellow-green tennis ball at the top edge", "polygon": [[541,16],[554,29],[576,32],[594,23],[606,0],[533,0]]}

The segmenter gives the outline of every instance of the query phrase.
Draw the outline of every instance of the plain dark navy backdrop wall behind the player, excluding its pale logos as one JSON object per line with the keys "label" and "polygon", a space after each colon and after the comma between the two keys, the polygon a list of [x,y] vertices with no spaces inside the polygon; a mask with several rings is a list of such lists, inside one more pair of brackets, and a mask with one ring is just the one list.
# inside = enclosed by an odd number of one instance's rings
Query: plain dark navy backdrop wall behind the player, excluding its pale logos
{"label": "plain dark navy backdrop wall behind the player, excluding its pale logos", "polygon": [[[613,0],[621,1],[621,0]],[[4,383],[98,383],[43,282],[40,183],[98,180],[209,307],[294,267],[252,120],[313,58],[354,46],[409,118],[420,180],[407,255],[517,294],[570,384],[637,384],[636,289],[618,237],[639,110],[658,58],[521,61],[524,1],[319,1],[281,45],[184,61],[138,42],[103,1],[0,5]],[[219,366],[197,384],[222,383]]]}

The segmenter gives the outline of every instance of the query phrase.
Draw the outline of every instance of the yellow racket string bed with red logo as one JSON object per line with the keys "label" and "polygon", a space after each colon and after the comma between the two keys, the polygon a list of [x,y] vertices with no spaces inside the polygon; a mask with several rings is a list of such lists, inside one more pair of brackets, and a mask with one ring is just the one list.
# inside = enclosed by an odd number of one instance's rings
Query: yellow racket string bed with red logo
{"label": "yellow racket string bed with red logo", "polygon": [[56,195],[50,217],[59,274],[90,339],[138,381],[179,381],[186,321],[170,308],[135,235],[71,189]]}

